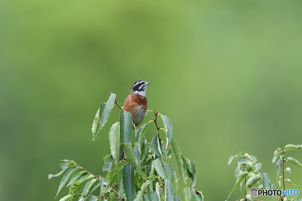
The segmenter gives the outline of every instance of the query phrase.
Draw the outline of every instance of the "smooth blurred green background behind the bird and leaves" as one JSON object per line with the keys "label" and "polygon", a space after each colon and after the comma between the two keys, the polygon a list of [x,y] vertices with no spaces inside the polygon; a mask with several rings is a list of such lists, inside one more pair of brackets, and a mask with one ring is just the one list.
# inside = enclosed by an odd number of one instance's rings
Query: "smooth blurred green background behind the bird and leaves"
{"label": "smooth blurred green background behind the bird and leaves", "polygon": [[[47,176],[60,159],[104,175],[119,109],[92,141],[95,112],[108,90],[122,105],[138,79],[150,82],[148,109],[171,119],[182,153],[197,165],[205,200],[227,199],[236,168],[227,161],[239,150],[277,184],[274,150],[302,140],[301,6],[0,1],[1,200],[54,200],[61,177]],[[301,150],[286,154],[302,161]],[[290,167],[287,177],[301,184],[301,169]],[[301,187],[287,187],[302,197]],[[241,198],[237,189],[230,200]]]}

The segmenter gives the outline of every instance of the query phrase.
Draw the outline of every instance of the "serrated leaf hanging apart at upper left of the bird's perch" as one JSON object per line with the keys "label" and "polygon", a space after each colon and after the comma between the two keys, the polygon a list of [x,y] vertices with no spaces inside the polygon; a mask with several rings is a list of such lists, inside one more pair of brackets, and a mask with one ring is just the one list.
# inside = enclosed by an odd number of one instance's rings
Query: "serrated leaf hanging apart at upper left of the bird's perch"
{"label": "serrated leaf hanging apart at upper left of the bird's perch", "polygon": [[108,101],[100,104],[100,108],[98,109],[92,124],[92,140],[95,140],[98,132],[107,122],[111,109],[114,106],[115,97],[116,95],[114,93],[110,93]]}

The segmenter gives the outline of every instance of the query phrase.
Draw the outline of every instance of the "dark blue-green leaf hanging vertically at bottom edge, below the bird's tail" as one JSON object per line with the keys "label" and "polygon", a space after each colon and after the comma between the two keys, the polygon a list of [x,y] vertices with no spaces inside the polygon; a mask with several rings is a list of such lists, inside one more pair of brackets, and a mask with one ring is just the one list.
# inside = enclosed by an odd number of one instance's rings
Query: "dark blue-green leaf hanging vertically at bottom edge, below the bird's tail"
{"label": "dark blue-green leaf hanging vertically at bottom edge, below the bird's tail", "polygon": [[134,166],[127,164],[124,165],[122,178],[123,178],[123,188],[126,195],[127,200],[134,199]]}

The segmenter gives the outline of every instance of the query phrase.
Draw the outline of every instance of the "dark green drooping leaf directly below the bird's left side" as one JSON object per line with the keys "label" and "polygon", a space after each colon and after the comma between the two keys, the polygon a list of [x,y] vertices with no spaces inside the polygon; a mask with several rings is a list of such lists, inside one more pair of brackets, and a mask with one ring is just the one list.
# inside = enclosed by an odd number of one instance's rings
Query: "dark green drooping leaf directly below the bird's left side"
{"label": "dark green drooping leaf directly below the bird's left side", "polygon": [[130,143],[132,137],[132,117],[130,112],[120,111],[120,143]]}

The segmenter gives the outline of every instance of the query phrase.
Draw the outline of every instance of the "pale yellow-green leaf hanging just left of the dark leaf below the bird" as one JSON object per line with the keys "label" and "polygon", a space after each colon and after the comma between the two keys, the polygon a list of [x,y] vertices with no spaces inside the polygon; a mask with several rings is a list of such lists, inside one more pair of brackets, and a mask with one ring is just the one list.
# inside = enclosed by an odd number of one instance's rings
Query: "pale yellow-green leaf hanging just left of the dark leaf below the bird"
{"label": "pale yellow-green leaf hanging just left of the dark leaf below the bird", "polygon": [[120,157],[120,122],[116,122],[112,125],[109,131],[109,144],[111,155],[113,156],[114,163],[118,168],[118,162]]}

